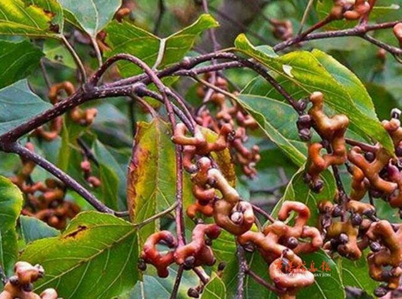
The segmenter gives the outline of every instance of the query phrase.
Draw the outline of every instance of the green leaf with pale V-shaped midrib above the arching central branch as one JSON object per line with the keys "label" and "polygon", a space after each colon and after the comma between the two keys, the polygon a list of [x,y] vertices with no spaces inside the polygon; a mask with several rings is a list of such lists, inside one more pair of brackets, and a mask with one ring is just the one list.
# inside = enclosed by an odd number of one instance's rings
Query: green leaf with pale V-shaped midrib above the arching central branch
{"label": "green leaf with pale V-shaped midrib above the arching central branch", "polygon": [[[182,59],[200,33],[217,26],[218,23],[210,15],[202,15],[190,26],[161,39],[128,22],[113,21],[105,28],[108,33],[106,43],[111,48],[106,56],[128,53],[140,58],[151,67],[166,66]],[[133,76],[142,72],[139,67],[128,62],[119,63],[119,69],[123,76]]]}

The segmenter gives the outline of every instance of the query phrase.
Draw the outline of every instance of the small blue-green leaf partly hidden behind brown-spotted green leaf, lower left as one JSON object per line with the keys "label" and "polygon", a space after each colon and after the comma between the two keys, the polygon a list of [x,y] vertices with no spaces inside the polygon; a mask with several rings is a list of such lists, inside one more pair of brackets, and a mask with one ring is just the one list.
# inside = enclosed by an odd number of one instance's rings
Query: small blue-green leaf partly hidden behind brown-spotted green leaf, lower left
{"label": "small blue-green leaf partly hidden behind brown-spotted green leaf, lower left", "polygon": [[35,217],[20,216],[20,226],[26,243],[60,235],[60,231]]}

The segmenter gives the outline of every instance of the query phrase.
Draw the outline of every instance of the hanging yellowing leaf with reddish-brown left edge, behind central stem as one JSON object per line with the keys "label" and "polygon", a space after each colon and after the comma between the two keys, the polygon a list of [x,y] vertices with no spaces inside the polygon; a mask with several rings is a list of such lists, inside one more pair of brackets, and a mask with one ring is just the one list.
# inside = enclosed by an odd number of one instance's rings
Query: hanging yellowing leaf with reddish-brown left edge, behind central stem
{"label": "hanging yellowing leaf with reddish-brown left edge, behind central stem", "polygon": [[[137,123],[127,175],[127,203],[131,219],[139,223],[174,204],[176,196],[175,146],[170,126],[159,118]],[[189,176],[184,175],[183,200],[193,202]],[[157,221],[141,227],[139,244],[158,229]]]}

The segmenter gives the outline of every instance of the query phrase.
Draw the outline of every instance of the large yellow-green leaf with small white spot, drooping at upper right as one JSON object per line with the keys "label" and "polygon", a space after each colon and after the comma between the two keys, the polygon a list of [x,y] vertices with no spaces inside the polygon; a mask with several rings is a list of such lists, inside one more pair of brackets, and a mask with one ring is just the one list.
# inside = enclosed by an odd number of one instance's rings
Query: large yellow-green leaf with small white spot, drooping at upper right
{"label": "large yellow-green leaf with small white spot, drooping at upper right", "polygon": [[[361,111],[361,105],[367,102],[367,98],[360,99],[362,95],[353,88],[354,93],[350,94],[351,87],[342,85],[342,82],[338,82],[330,73],[341,70],[342,73],[337,74],[338,79],[347,73],[344,68],[339,67],[338,63],[331,66],[330,71],[328,71],[313,53],[307,51],[291,52],[279,58],[270,57],[251,45],[244,34],[237,37],[235,45],[238,51],[256,59],[281,77],[292,82],[300,91],[309,94],[314,91],[323,92],[325,103],[330,108],[338,113],[346,114],[354,128],[359,129],[362,135],[367,134],[380,142],[390,153],[393,153],[393,144],[389,134],[374,116],[375,112],[365,113],[365,111],[372,109],[372,104],[371,108],[365,106],[365,109]],[[319,52],[316,51],[315,53],[319,55]],[[331,61],[333,62],[332,58],[321,56],[321,59],[327,67]],[[356,99],[354,96],[359,98]],[[366,95],[363,96],[367,97]]]}

